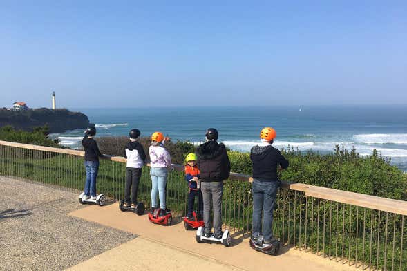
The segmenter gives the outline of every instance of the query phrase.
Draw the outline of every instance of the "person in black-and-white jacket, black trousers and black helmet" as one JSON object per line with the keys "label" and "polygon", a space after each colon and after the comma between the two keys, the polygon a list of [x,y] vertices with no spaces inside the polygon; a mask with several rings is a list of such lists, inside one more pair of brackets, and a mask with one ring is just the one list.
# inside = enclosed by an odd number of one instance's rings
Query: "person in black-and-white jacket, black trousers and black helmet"
{"label": "person in black-and-white jacket, black trousers and black helmet", "polygon": [[[135,208],[137,204],[138,183],[142,176],[142,167],[146,162],[146,153],[142,144],[137,142],[140,137],[140,130],[131,129],[130,142],[127,143],[124,150],[124,157],[127,158],[126,162],[126,189],[124,191],[123,206],[127,207],[131,204],[131,208]],[[131,189],[131,203],[130,203],[130,189]]]}

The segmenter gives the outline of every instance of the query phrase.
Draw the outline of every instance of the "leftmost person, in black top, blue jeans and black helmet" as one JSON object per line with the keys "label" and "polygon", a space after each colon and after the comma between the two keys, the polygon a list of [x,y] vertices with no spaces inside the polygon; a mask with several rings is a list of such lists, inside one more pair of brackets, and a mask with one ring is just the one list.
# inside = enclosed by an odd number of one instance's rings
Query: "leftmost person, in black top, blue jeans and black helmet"
{"label": "leftmost person, in black top, blue jeans and black helmet", "polygon": [[86,170],[86,183],[84,189],[83,199],[88,199],[91,196],[92,200],[96,199],[96,178],[99,171],[99,157],[102,157],[102,153],[97,147],[97,143],[93,140],[96,135],[96,128],[94,126],[89,127],[85,131],[84,139],[82,139],[82,146],[85,150],[85,170]]}

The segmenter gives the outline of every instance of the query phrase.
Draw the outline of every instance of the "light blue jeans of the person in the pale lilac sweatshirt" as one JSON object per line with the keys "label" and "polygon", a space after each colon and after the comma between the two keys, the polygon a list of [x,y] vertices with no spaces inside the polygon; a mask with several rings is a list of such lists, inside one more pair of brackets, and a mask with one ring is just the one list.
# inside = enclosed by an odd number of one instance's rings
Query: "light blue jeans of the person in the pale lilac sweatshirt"
{"label": "light blue jeans of the person in the pale lilac sweatshirt", "polygon": [[167,187],[167,167],[151,167],[151,207],[157,208],[157,194],[160,198],[160,208],[166,209],[165,205],[165,187]]}

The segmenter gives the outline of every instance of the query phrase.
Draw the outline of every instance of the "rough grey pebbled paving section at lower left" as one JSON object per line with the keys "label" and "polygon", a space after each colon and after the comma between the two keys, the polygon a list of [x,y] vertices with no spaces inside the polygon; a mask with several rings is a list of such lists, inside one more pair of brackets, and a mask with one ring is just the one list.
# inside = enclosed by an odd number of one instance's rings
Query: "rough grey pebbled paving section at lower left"
{"label": "rough grey pebbled paving section at lower left", "polygon": [[0,176],[0,270],[64,270],[135,234],[84,221],[77,193]]}

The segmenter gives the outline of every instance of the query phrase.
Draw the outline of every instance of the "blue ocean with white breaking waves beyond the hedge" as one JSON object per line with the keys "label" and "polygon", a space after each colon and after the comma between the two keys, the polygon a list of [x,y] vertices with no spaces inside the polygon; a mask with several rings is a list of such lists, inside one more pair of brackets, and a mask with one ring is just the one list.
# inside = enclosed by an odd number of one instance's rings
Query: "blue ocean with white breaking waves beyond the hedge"
{"label": "blue ocean with white breaking waves beyond the hedge", "polygon": [[[205,130],[214,127],[219,141],[230,149],[249,151],[259,142],[263,127],[277,131],[274,147],[300,151],[334,151],[335,145],[363,156],[373,149],[407,171],[407,106],[270,106],[185,107],[133,109],[70,109],[88,115],[97,136],[127,136],[138,128],[142,136],[162,131],[172,140],[198,144]],[[51,134],[60,144],[76,149],[84,131]]]}

